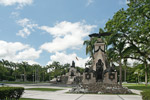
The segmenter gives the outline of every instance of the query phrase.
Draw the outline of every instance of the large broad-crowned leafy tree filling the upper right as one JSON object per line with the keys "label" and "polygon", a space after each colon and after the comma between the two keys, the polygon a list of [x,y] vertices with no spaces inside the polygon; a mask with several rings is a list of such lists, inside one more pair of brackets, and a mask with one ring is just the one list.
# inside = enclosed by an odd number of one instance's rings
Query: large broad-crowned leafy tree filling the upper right
{"label": "large broad-crowned leafy tree filling the upper right", "polygon": [[[122,34],[126,39],[130,54],[126,58],[137,59],[147,69],[150,61],[150,1],[130,0],[129,8],[121,9],[106,23],[105,29]],[[121,39],[122,39],[121,38]],[[147,70],[145,71],[147,85]]]}

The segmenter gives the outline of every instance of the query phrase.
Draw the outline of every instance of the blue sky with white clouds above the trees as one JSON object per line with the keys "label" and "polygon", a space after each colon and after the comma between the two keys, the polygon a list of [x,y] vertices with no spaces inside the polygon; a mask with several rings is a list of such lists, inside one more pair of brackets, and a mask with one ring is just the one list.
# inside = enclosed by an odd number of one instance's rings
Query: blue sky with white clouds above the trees
{"label": "blue sky with white clouds above the trees", "polygon": [[121,8],[126,0],[0,0],[0,59],[84,67],[83,41]]}

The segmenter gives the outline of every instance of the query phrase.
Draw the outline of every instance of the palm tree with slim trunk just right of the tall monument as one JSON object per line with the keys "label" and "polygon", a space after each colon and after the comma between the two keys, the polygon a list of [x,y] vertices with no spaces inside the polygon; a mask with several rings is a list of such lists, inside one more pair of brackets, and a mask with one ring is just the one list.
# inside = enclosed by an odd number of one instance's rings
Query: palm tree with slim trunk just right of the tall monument
{"label": "palm tree with slim trunk just right of the tall monument", "polygon": [[122,86],[122,60],[125,59],[131,47],[126,47],[127,40],[122,38],[122,34],[113,34],[110,36],[108,44],[111,48],[108,49],[108,58],[119,64],[119,84]]}

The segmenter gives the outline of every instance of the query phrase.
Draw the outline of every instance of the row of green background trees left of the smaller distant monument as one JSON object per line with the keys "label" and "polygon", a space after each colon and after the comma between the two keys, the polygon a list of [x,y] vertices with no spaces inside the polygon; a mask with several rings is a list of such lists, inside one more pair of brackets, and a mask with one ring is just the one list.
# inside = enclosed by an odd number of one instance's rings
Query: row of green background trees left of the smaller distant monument
{"label": "row of green background trees left of the smaller distant monument", "polygon": [[55,61],[47,66],[40,66],[38,64],[29,65],[28,62],[13,63],[2,59],[0,60],[0,81],[17,80],[24,83],[49,81],[54,77],[66,74],[69,67],[70,64],[61,65]]}

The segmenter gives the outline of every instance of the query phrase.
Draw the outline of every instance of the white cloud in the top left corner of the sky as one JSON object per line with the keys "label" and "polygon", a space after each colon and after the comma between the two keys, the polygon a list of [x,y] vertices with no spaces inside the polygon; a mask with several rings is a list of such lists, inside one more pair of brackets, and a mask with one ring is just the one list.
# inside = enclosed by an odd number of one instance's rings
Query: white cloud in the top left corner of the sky
{"label": "white cloud in the top left corner of the sky", "polygon": [[18,5],[17,9],[20,9],[26,5],[33,3],[33,0],[0,0],[0,4],[4,6]]}

